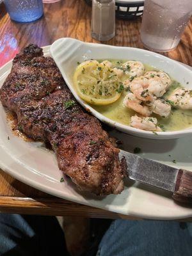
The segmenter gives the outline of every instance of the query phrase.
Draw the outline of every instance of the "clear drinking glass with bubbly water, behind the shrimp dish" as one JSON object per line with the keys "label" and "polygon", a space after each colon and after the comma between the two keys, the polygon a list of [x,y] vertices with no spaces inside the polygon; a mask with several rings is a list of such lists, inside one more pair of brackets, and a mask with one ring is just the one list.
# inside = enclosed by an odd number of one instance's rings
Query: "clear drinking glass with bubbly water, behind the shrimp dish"
{"label": "clear drinking glass with bubbly water, behind the shrimp dish", "polygon": [[192,0],[145,0],[141,41],[148,49],[175,49],[192,13]]}

